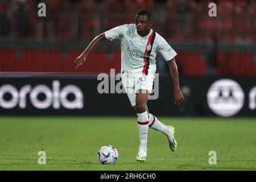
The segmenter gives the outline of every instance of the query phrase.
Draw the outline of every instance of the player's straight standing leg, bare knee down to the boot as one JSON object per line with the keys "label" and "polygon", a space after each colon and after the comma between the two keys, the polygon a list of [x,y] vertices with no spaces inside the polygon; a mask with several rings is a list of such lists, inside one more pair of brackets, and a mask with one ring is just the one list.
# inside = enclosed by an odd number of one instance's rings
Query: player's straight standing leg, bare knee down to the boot
{"label": "player's straight standing leg, bare knee down to the boot", "polygon": [[149,96],[148,90],[139,89],[136,94],[136,113],[138,115],[138,131],[139,131],[139,152],[138,161],[146,160],[147,156],[147,131],[148,131],[148,113],[147,100]]}

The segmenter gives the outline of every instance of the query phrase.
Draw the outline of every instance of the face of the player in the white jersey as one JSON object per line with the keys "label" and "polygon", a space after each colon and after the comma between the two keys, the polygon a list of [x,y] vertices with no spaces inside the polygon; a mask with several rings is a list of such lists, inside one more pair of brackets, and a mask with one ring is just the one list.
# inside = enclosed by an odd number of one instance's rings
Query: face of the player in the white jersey
{"label": "face of the player in the white jersey", "polygon": [[150,32],[152,22],[146,15],[137,15],[135,19],[137,32],[141,36],[146,36]]}

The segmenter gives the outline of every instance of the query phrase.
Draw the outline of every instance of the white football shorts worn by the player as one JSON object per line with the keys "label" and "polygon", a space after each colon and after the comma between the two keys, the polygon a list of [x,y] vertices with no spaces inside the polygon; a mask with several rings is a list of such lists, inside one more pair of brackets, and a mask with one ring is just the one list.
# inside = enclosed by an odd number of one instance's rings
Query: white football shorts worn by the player
{"label": "white football shorts worn by the player", "polygon": [[139,89],[148,90],[151,93],[154,84],[153,75],[142,75],[136,77],[127,77],[122,75],[122,84],[125,92],[131,102],[131,106],[136,105],[136,93]]}

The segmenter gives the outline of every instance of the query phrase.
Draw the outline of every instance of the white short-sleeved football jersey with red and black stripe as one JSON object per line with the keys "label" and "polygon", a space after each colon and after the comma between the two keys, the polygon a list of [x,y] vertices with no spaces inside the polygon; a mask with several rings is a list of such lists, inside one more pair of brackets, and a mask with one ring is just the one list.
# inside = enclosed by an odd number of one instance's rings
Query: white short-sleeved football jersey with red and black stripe
{"label": "white short-sleeved football jersey with red and black stripe", "polygon": [[135,24],[112,28],[105,32],[105,36],[108,40],[121,40],[121,73],[127,76],[155,75],[158,52],[166,61],[177,55],[166,40],[152,29],[148,35],[140,36]]}

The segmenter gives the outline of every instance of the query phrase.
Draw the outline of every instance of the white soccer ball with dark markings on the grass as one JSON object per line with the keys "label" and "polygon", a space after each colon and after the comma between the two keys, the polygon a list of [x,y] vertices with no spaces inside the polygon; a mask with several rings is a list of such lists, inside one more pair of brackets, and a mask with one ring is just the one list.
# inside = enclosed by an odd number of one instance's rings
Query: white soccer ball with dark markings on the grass
{"label": "white soccer ball with dark markings on the grass", "polygon": [[118,159],[118,151],[114,146],[102,146],[98,150],[98,160],[101,164],[114,164]]}

